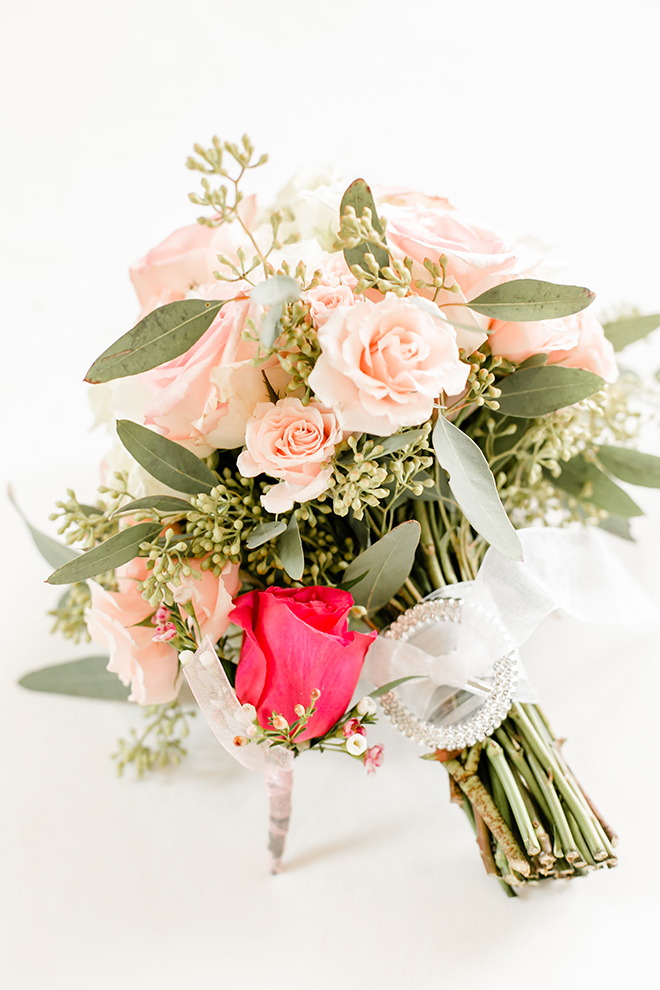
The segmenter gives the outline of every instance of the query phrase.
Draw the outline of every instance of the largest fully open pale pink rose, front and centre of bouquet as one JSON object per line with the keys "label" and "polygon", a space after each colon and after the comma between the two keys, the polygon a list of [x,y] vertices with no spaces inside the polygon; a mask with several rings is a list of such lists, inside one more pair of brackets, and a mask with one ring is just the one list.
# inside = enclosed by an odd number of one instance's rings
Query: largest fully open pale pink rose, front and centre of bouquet
{"label": "largest fully open pale pink rose, front and centre of bouquet", "polygon": [[390,293],[341,307],[319,328],[322,354],[309,384],[342,429],[389,435],[418,426],[441,392],[465,388],[470,369],[441,317]]}

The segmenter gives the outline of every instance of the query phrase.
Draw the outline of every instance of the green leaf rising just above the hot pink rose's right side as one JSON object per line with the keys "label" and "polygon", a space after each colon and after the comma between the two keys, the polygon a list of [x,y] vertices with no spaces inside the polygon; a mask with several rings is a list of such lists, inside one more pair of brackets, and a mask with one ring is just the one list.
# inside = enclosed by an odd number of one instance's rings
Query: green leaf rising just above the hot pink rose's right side
{"label": "green leaf rising just above the hot pink rose's right side", "polygon": [[387,605],[410,574],[420,532],[414,519],[401,523],[348,565],[344,583],[364,576],[352,592],[356,605],[363,605],[368,613]]}

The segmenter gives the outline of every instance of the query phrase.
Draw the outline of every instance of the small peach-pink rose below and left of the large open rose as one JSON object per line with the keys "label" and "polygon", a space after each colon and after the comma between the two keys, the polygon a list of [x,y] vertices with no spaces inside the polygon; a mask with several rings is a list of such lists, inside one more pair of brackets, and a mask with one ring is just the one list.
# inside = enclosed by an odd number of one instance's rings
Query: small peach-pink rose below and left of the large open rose
{"label": "small peach-pink rose below and left of the large open rose", "polygon": [[262,473],[282,478],[261,502],[268,512],[288,512],[294,502],[308,502],[326,490],[329,461],[341,439],[334,413],[318,402],[260,402],[245,430],[247,450],[239,455],[238,470],[247,478]]}

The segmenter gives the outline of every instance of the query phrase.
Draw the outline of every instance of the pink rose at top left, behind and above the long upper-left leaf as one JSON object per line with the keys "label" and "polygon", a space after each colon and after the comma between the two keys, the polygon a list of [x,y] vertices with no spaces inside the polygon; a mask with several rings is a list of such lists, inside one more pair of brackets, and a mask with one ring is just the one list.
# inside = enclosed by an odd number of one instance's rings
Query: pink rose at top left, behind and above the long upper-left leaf
{"label": "pink rose at top left, behind and above the long upper-left leaf", "polygon": [[[241,216],[249,227],[256,216],[253,196],[243,200]],[[224,254],[236,263],[238,247],[247,250],[249,241],[237,223],[225,223],[220,227],[194,223],[175,230],[131,266],[131,280],[142,306],[142,315],[165,303],[185,299],[200,285],[213,284],[216,281],[213,272],[224,270],[218,262],[218,255]],[[231,275],[229,271],[227,274]],[[232,283],[224,285],[231,298],[236,290]]]}

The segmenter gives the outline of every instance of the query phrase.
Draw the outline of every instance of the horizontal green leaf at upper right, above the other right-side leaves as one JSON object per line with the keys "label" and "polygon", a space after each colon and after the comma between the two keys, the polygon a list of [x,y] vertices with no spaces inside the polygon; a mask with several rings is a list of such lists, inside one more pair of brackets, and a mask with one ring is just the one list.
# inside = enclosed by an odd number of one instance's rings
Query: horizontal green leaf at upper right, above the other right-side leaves
{"label": "horizontal green leaf at upper right, above the other right-side leaves", "polygon": [[555,320],[586,309],[596,295],[579,285],[555,285],[536,278],[517,278],[483,292],[467,303],[475,313],[516,323]]}

